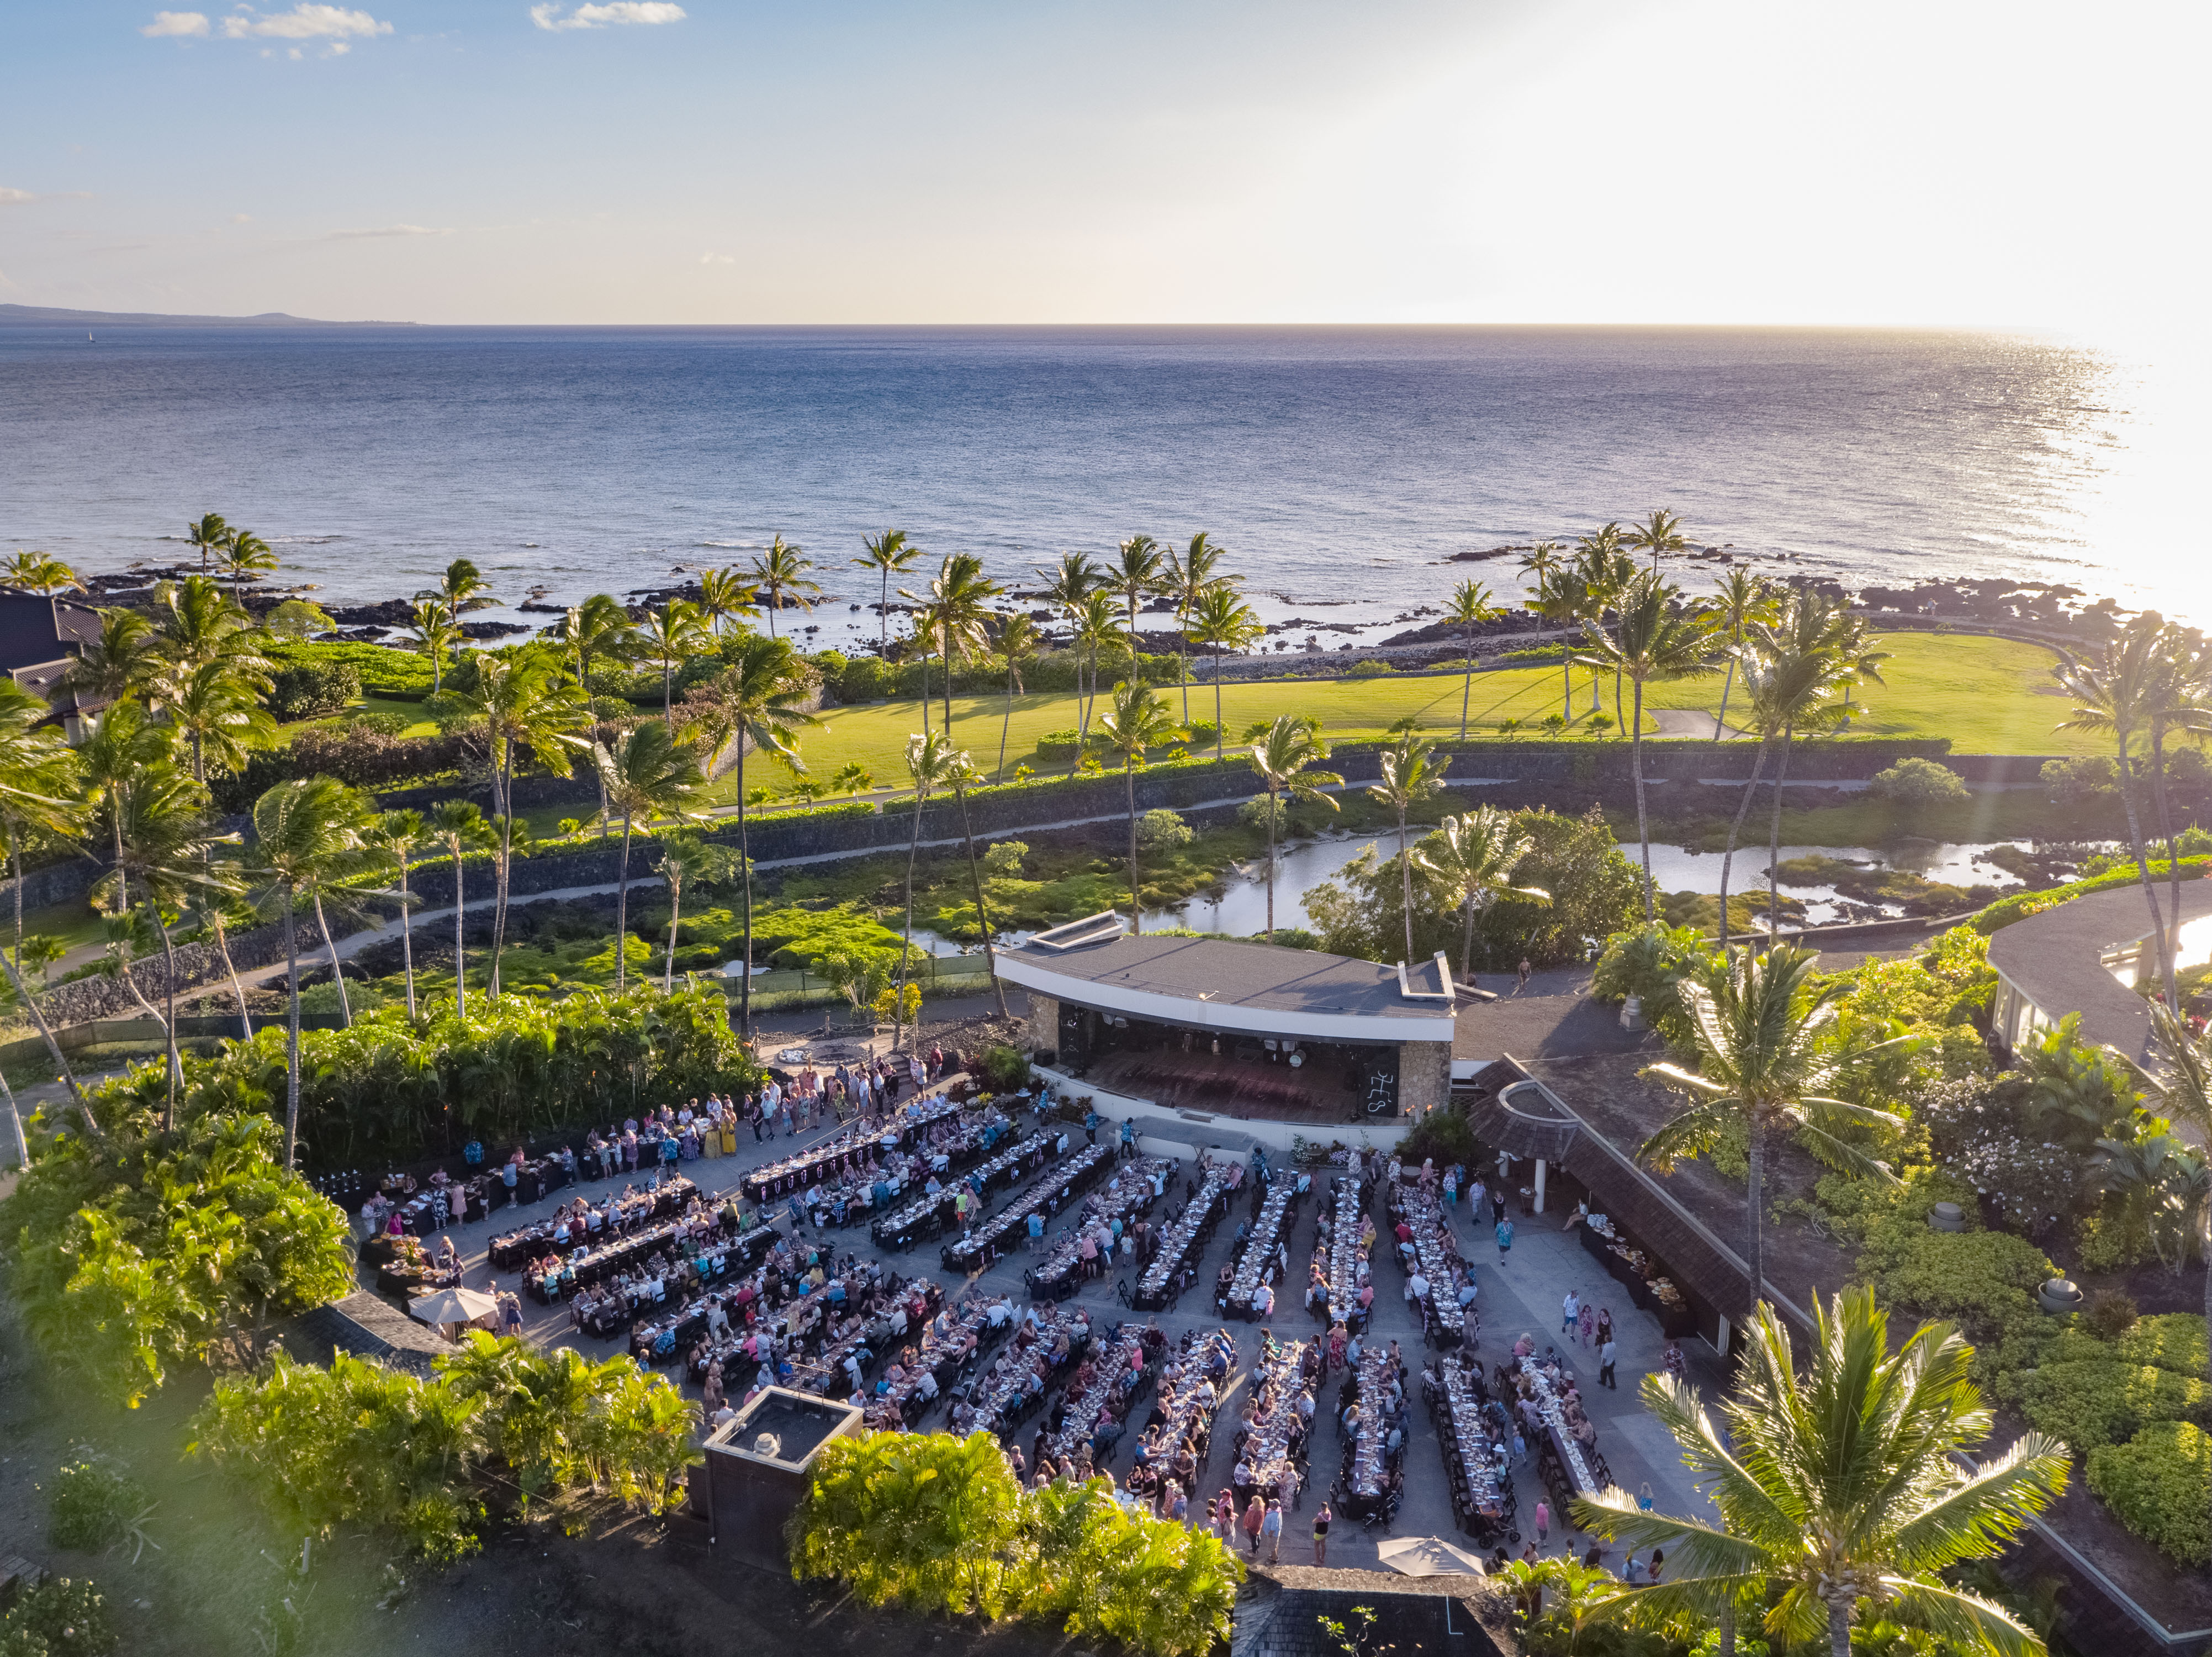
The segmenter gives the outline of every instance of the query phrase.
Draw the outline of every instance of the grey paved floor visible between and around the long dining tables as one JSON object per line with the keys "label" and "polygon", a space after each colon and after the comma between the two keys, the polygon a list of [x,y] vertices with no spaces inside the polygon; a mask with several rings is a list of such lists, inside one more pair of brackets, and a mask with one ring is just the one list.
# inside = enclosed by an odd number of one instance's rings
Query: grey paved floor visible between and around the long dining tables
{"label": "grey paved floor visible between and around the long dining tables", "polygon": [[[801,1144],[821,1137],[803,1135]],[[768,1161],[772,1155],[787,1155],[792,1150],[790,1142],[776,1142],[774,1146],[754,1146],[750,1135],[741,1133],[741,1146],[737,1157],[721,1159],[699,1159],[684,1166],[684,1173],[695,1179],[701,1190],[721,1195],[732,1190],[741,1175]],[[1318,1181],[1316,1181],[1318,1184]],[[608,1181],[586,1181],[577,1188],[564,1192],[573,1197],[577,1192],[586,1197],[602,1197],[611,1190]],[[993,1192],[1002,1197],[1002,1192]],[[453,1232],[456,1248],[467,1265],[465,1281],[471,1288],[484,1288],[491,1279],[487,1268],[484,1248],[491,1234],[507,1232],[515,1223],[533,1219],[544,1212],[544,1203],[526,1206],[520,1212],[498,1210],[487,1221],[476,1221],[462,1226]],[[1310,1199],[1298,1215],[1298,1226],[1290,1239],[1292,1259],[1292,1281],[1303,1283],[1305,1261],[1314,1248],[1314,1217],[1318,1206]],[[1482,1356],[1486,1363],[1495,1363],[1524,1330],[1537,1338],[1542,1347],[1546,1341],[1557,1341],[1559,1334],[1559,1301],[1573,1288],[1584,1296],[1597,1294],[1599,1305],[1613,1305],[1613,1321],[1619,1338],[1619,1389],[1606,1392],[1597,1387],[1597,1361],[1588,1354],[1584,1363],[1577,1365],[1582,1376],[1584,1400],[1590,1418],[1597,1422],[1597,1442],[1613,1467],[1615,1478],[1628,1489],[1639,1489],[1650,1484],[1661,1509],[1677,1513],[1705,1513],[1703,1498],[1690,1484],[1688,1471],[1681,1467],[1679,1456],[1672,1449],[1672,1440],[1666,1431],[1644,1411],[1637,1400],[1637,1383],[1646,1369],[1659,1365],[1659,1354],[1663,1349],[1663,1338],[1659,1325],[1632,1305],[1608,1301],[1606,1294],[1613,1290],[1613,1279],[1608,1279],[1597,1263],[1582,1250],[1579,1241],[1559,1230],[1559,1217],[1535,1217],[1520,1219],[1515,1230],[1515,1243],[1511,1259],[1500,1265],[1495,1241],[1491,1237],[1489,1215],[1480,1221],[1467,1212],[1464,1203],[1458,1215],[1460,1223],[1460,1248],[1469,1261],[1478,1268],[1480,1283],[1480,1310],[1482,1310]],[[783,1223],[790,1230],[790,1221]],[[1179,1336],[1188,1327],[1203,1327],[1214,1323],[1214,1319],[1203,1316],[1206,1290],[1212,1283],[1221,1263],[1230,1257],[1234,1248],[1234,1215],[1221,1223],[1212,1243],[1208,1246],[1197,1283],[1190,1294],[1183,1296],[1183,1310],[1168,1310],[1157,1314],[1157,1323],[1172,1336]],[[860,1248],[867,1250],[867,1230],[863,1226],[852,1226],[841,1232],[830,1234],[838,1248]],[[1378,1246],[1378,1254],[1383,1254]],[[947,1290],[962,1288],[962,1279],[938,1268],[936,1246],[922,1246],[905,1257],[894,1257],[896,1268],[905,1274],[931,1276]],[[1022,1299],[1022,1263],[1026,1257],[1013,1254],[1000,1261],[991,1272],[984,1274],[984,1285],[993,1290],[1006,1290],[1020,1303]],[[509,1281],[511,1285],[511,1281]],[[1093,1307],[1093,1314],[1102,1323],[1113,1323],[1117,1319],[1135,1316],[1126,1312],[1115,1299],[1115,1279],[1102,1279],[1088,1283],[1079,1296]],[[617,1349],[615,1341],[595,1341],[591,1336],[577,1334],[568,1323],[566,1307],[540,1307],[529,1299],[524,1305],[524,1327],[533,1341],[544,1345],[573,1345],[591,1356],[606,1356]],[[1250,1363],[1259,1352],[1259,1330],[1248,1323],[1230,1323],[1230,1332],[1239,1341],[1239,1349]],[[1270,1327],[1283,1336],[1303,1338],[1314,1334],[1314,1323],[1305,1316],[1303,1307],[1290,1305],[1279,1312]],[[1398,1338],[1411,1367],[1420,1367],[1420,1325],[1411,1316],[1402,1299],[1402,1279],[1398,1265],[1391,1259],[1378,1259],[1376,1263],[1376,1314],[1374,1314],[1376,1338]],[[1719,1367],[1703,1343],[1692,1343],[1686,1347],[1690,1352],[1692,1378],[1699,1380],[1701,1389],[1712,1396],[1719,1383]],[[1241,1378],[1237,1387],[1241,1389]],[[1334,1403],[1336,1387],[1340,1383],[1329,1378],[1323,1383],[1321,1409],[1329,1411]],[[688,1389],[690,1392],[690,1389]],[[1221,1418],[1223,1422],[1234,1420],[1241,1405],[1237,1389],[1223,1400]],[[942,1425],[942,1414],[936,1414],[922,1422]],[[1312,1453],[1312,1471],[1316,1482],[1325,1487],[1327,1478],[1336,1469],[1338,1440],[1336,1429],[1327,1420],[1316,1427],[1316,1442]],[[1380,1529],[1363,1531],[1358,1524],[1338,1522],[1329,1542],[1329,1564],[1345,1566],[1371,1566],[1376,1564],[1376,1542],[1385,1535],[1453,1535],[1451,1522],[1451,1500],[1444,1487],[1442,1456],[1436,1440],[1436,1431],[1427,1418],[1427,1411],[1416,1403],[1409,1411],[1409,1445],[1407,1445],[1407,1478],[1405,1478],[1405,1504],[1400,1507],[1389,1533]],[[1115,1471],[1124,1471],[1126,1460],[1117,1458]],[[1221,1431],[1214,1440],[1212,1465],[1201,1476],[1201,1493],[1212,1493],[1225,1487],[1230,1469],[1230,1434]],[[1533,1513],[1542,1496],[1535,1480],[1535,1462],[1520,1471],[1520,1515],[1522,1526],[1533,1535]],[[1303,1513],[1312,1513],[1314,1496],[1305,1493],[1301,1498]],[[1292,1546],[1294,1542],[1294,1546]],[[1555,1551],[1566,1544],[1566,1531],[1555,1522],[1551,1531],[1551,1549]],[[1285,1531],[1285,1557],[1310,1560],[1310,1540],[1303,1518]]]}

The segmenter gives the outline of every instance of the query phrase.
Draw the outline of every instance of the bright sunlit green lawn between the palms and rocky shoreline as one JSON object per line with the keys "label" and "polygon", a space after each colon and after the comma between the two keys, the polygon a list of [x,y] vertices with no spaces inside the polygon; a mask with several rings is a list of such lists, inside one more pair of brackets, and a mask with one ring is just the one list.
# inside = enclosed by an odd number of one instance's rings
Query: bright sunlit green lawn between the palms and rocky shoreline
{"label": "bright sunlit green lawn between the palms and rocky shoreline", "polygon": [[[2101,737],[2077,732],[2055,732],[2053,726],[2066,717],[2068,704],[2062,697],[2039,695],[2051,684],[2053,653],[2037,644],[2015,639],[1900,633],[1887,642],[1891,661],[1885,666],[1887,684],[1867,686],[1863,712],[1851,730],[1863,737],[1949,737],[1960,754],[2093,754],[2104,752]],[[1537,726],[1544,715],[1559,708],[1562,675],[1557,668],[1504,668],[1478,673],[1469,706],[1469,734],[1500,737],[1502,719],[1524,721],[1511,737],[1544,737]],[[1321,715],[1329,737],[1383,737],[1387,726],[1413,715],[1425,730],[1436,734],[1458,734],[1460,690],[1455,675],[1385,675],[1378,679],[1336,679],[1321,684],[1223,684],[1221,710],[1228,726],[1230,746],[1237,734],[1261,719],[1285,712]],[[1181,692],[1166,690],[1177,712]],[[1601,686],[1604,712],[1613,712],[1613,684]],[[1712,679],[1690,679],[1679,684],[1650,686],[1646,692],[1646,715],[1655,708],[1697,708],[1714,712],[1721,704],[1721,675]],[[1590,706],[1588,673],[1575,675],[1577,717]],[[1624,704],[1626,706],[1626,704]],[[1741,706],[1741,704],[1739,704]],[[953,734],[987,772],[998,768],[1000,719],[1004,697],[953,697]],[[931,719],[942,712],[933,704]],[[1190,717],[1214,717],[1212,686],[1190,688]],[[1035,761],[1037,739],[1048,730],[1075,726],[1075,697],[1035,695],[1013,699],[1013,721],[1006,741],[1009,770],[1024,759]],[[894,785],[905,779],[907,737],[922,728],[922,715],[914,701],[865,704],[858,708],[832,708],[823,715],[823,728],[803,737],[801,754],[814,777],[827,779],[847,761],[858,761],[876,777],[876,785]],[[1579,726],[1577,726],[1579,728]],[[1646,719],[1646,734],[1655,726]],[[765,772],[759,781],[772,788],[787,788],[790,774],[781,765],[748,765],[748,783],[754,772]],[[1066,763],[1040,772],[1064,772]]]}

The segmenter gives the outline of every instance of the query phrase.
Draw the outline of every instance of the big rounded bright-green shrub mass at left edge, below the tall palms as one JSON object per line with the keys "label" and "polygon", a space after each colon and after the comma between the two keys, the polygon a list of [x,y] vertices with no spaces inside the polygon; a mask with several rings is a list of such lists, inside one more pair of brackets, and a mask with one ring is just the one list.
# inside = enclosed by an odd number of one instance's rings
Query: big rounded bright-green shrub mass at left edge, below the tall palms
{"label": "big rounded bright-green shrub mass at left edge, below the tall palms", "polygon": [[24,1323],[62,1369],[137,1405],[170,1365],[252,1365],[274,1319],[352,1290],[345,1215],[283,1170],[270,1117],[212,1111],[177,1133],[102,1119],[104,1144],[42,1144],[0,1206]]}

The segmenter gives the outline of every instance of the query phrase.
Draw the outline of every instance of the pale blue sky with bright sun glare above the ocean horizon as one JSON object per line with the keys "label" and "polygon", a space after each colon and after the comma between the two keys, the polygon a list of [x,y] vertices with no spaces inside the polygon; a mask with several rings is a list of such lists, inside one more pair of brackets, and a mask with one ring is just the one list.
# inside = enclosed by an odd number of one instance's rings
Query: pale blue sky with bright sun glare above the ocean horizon
{"label": "pale blue sky with bright sun glare above the ocean horizon", "polygon": [[0,301],[2166,338],[2201,325],[2208,33],[1940,0],[15,0]]}

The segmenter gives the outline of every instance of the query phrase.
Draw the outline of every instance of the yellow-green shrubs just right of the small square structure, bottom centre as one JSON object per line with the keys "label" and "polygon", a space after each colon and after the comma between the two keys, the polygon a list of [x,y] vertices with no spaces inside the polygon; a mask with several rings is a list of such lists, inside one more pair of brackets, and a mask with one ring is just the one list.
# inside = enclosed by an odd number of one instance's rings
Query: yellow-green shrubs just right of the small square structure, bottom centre
{"label": "yellow-green shrubs just right of the small square structure, bottom centre", "polygon": [[1155,1657],[1225,1642],[1243,1580],[1217,1538],[1128,1513],[1104,1478],[1022,1491],[989,1434],[830,1442],[787,1538],[794,1577],[867,1604],[1053,1619]]}

